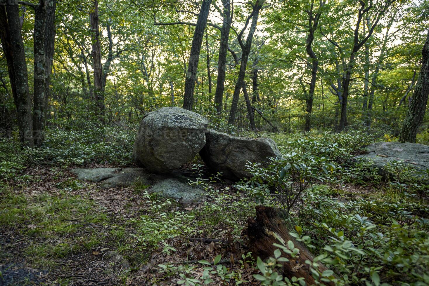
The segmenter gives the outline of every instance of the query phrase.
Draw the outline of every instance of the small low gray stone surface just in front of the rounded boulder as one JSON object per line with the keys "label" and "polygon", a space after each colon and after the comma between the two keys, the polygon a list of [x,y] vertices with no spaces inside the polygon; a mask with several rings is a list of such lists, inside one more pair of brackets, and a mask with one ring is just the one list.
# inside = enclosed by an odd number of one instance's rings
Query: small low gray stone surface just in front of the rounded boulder
{"label": "small low gray stone surface just in front of the rounded boulder", "polygon": [[162,180],[149,189],[151,193],[160,194],[178,200],[181,203],[195,203],[203,199],[203,190],[187,185],[183,180],[169,178]]}

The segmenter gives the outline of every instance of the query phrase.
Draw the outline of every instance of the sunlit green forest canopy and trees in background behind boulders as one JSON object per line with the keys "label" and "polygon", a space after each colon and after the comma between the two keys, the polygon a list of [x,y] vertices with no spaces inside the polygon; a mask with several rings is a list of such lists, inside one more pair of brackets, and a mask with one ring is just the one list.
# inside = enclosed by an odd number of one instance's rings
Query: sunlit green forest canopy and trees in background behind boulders
{"label": "sunlit green forest canopy and trees in background behind boulders", "polygon": [[12,6],[1,5],[2,30],[12,42],[12,26],[21,31],[13,56],[26,64],[28,84],[17,112],[3,54],[1,128],[9,133],[31,109],[45,109],[33,118],[43,133],[38,122],[112,124],[184,106],[253,131],[396,137],[429,24],[426,1],[15,2],[9,23]]}

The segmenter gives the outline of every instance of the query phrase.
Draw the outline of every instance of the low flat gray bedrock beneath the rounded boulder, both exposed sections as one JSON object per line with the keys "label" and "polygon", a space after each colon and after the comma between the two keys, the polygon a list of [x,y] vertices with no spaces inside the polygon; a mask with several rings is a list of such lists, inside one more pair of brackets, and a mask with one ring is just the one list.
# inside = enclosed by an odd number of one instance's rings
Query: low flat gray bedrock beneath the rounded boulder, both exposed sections
{"label": "low flat gray bedrock beneath the rounded boulder, both exposed sections", "polygon": [[150,193],[172,198],[181,203],[195,203],[202,200],[203,190],[187,184],[193,179],[190,173],[173,171],[170,176],[149,173],[141,168],[95,168],[73,169],[81,181],[99,183],[101,188],[120,188],[133,185],[153,185]]}

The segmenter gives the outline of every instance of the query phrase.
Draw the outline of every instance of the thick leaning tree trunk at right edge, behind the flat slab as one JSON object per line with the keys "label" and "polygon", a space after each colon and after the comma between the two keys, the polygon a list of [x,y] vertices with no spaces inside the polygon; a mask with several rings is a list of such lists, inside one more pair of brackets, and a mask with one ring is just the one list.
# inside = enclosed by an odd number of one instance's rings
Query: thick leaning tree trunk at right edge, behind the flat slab
{"label": "thick leaning tree trunk at right edge, behind the flat slab", "polygon": [[417,131],[425,115],[429,95],[429,30],[422,54],[422,68],[408,108],[407,117],[405,117],[402,131],[399,134],[399,142],[416,143]]}

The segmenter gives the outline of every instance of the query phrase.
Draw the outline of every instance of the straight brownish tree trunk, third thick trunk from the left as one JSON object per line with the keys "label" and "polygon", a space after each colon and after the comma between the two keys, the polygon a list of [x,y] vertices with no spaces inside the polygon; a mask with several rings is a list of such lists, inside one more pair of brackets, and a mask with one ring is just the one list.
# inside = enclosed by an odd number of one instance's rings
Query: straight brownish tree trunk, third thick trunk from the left
{"label": "straight brownish tree trunk, third thick trunk from the left", "polygon": [[92,60],[94,69],[94,99],[96,115],[104,122],[103,71],[101,67],[100,30],[98,28],[98,0],[94,0],[94,11],[90,13]]}

